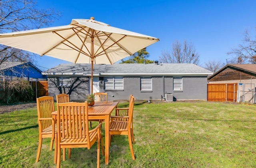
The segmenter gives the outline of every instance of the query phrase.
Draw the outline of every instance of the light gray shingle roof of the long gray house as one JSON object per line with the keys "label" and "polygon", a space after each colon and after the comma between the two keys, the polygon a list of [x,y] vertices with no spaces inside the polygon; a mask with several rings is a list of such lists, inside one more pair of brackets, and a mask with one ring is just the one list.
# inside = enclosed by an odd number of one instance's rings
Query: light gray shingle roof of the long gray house
{"label": "light gray shingle roof of the long gray house", "polygon": [[[194,74],[209,75],[211,71],[195,64],[94,64],[97,75]],[[91,64],[60,64],[42,72],[44,75],[90,75]]]}

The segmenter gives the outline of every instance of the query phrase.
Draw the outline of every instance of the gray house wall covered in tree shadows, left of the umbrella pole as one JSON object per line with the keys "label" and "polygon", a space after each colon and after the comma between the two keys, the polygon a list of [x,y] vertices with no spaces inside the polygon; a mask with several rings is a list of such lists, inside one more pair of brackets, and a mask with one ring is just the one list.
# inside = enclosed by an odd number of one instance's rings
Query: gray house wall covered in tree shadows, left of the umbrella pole
{"label": "gray house wall covered in tree shadows, left of the umbrella pole", "polygon": [[48,95],[56,100],[58,94],[69,94],[70,101],[85,101],[89,94],[89,78],[70,77],[70,87],[58,87],[58,77],[48,77]]}

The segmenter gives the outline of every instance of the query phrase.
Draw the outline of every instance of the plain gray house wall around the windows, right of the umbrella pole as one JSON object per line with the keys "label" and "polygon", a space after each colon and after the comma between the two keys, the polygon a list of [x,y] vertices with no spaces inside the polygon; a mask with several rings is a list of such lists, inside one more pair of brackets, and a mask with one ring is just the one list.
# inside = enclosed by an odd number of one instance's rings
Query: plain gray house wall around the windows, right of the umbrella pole
{"label": "plain gray house wall around the windows, right of the umbrella pole", "polygon": [[[164,84],[163,84],[164,83]],[[172,93],[174,100],[207,100],[207,77],[183,77],[182,91],[173,90],[173,77],[152,77],[152,91],[140,90],[140,77],[124,77],[123,91],[106,91],[108,100],[128,100],[130,94],[140,100],[160,100],[161,95]]]}

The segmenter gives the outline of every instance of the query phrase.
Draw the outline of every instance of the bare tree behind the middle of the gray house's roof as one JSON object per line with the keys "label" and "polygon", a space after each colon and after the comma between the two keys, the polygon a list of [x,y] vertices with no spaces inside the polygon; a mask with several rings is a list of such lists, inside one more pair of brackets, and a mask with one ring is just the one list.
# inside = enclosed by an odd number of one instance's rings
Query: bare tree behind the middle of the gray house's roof
{"label": "bare tree behind the middle of the gray house's roof", "polygon": [[172,43],[172,51],[162,52],[159,61],[162,63],[193,63],[199,64],[199,55],[192,43],[175,41]]}

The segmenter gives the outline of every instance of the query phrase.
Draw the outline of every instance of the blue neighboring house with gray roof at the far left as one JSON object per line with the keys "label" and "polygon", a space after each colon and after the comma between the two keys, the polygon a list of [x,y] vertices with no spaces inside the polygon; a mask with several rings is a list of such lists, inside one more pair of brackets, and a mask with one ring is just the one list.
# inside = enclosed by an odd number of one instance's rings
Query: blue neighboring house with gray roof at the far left
{"label": "blue neighboring house with gray roof at the far left", "polygon": [[0,80],[11,80],[12,78],[27,78],[29,81],[46,80],[42,70],[30,62],[9,62],[0,64]]}

